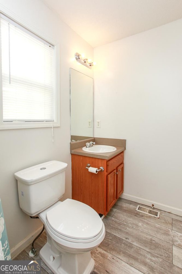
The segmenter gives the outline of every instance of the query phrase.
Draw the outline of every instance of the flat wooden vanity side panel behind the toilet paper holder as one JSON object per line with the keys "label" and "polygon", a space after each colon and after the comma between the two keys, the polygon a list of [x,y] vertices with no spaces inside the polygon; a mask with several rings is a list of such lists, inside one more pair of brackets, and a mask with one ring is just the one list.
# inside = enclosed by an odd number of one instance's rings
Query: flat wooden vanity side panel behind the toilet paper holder
{"label": "flat wooden vanity side panel behind the toilet paper holder", "polygon": [[106,160],[76,154],[72,154],[71,158],[72,199],[87,204],[97,213],[106,215],[107,181],[105,171],[94,174],[86,169],[87,164],[90,164],[90,166],[98,168],[103,166],[106,170]]}

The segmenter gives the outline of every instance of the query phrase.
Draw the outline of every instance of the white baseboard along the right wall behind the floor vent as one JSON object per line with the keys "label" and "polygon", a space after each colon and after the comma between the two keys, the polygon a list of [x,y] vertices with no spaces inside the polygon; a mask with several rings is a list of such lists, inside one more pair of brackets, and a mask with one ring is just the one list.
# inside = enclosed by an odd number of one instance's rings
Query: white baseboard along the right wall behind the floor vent
{"label": "white baseboard along the right wall behind the floor vent", "polygon": [[126,194],[126,193],[123,193],[120,197],[124,198],[126,200],[130,200],[130,201],[133,201],[133,202],[136,202],[136,203],[139,203],[139,204],[146,205],[146,206],[152,206],[152,204],[154,204],[154,207],[157,208],[157,209],[161,209],[161,210],[164,210],[164,211],[167,211],[167,212],[182,216],[182,209],[180,209],[180,208],[167,206],[167,205],[164,205],[164,204],[160,204],[158,202],[146,200],[146,199],[140,198],[138,196],[133,196],[133,195]]}

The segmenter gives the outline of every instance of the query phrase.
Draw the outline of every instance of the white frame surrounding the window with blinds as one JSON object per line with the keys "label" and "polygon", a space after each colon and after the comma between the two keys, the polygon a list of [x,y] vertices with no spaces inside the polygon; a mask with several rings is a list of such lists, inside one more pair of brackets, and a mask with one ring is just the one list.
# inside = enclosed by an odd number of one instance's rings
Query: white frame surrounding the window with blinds
{"label": "white frame surrounding the window with blinds", "polygon": [[60,47],[59,44],[53,41],[50,37],[47,37],[45,33],[41,33],[40,30],[35,29],[32,25],[23,21],[20,17],[11,14],[10,12],[5,12],[2,10],[0,4],[0,13],[9,17],[9,19],[15,21],[16,24],[22,26],[28,31],[32,32],[37,37],[48,41],[55,47],[54,57],[55,57],[55,120],[54,121],[44,121],[44,122],[3,122],[3,87],[2,87],[2,67],[1,67],[1,41],[0,41],[0,130],[5,129],[19,129],[19,128],[46,128],[46,127],[57,127],[60,126]]}

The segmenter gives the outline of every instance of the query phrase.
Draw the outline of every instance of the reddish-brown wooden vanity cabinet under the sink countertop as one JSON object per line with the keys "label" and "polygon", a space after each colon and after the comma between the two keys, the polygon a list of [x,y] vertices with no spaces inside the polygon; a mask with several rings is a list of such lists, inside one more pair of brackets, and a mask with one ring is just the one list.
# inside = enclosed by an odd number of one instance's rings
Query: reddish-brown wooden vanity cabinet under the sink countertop
{"label": "reddish-brown wooden vanity cabinet under the sink countertop", "polygon": [[[72,154],[72,199],[106,215],[123,193],[124,153],[110,160]],[[104,167],[104,172],[88,172],[87,164]]]}

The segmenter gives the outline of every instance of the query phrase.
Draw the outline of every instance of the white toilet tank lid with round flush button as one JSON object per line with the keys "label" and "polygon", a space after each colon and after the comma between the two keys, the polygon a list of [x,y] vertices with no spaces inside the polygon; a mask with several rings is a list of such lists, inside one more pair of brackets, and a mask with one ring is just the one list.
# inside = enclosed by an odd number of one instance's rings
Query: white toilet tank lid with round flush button
{"label": "white toilet tank lid with round flush button", "polygon": [[68,164],[59,161],[49,161],[16,172],[15,178],[25,184],[34,184],[53,175],[63,172]]}

